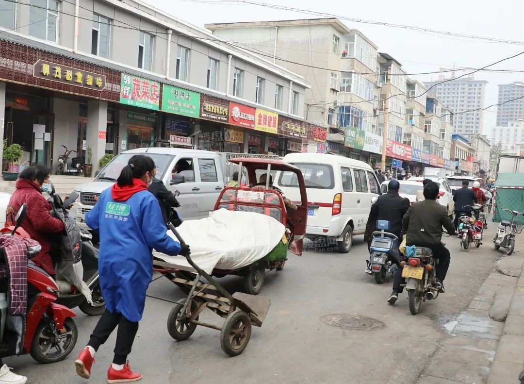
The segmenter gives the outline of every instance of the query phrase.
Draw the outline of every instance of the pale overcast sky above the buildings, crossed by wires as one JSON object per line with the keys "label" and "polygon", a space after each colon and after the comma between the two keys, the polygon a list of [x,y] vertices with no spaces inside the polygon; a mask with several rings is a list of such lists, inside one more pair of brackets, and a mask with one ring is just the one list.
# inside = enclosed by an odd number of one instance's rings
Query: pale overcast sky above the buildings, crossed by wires
{"label": "pale overcast sky above the buildings, crossed by wires", "polygon": [[[422,2],[401,0],[397,2],[341,2],[340,0],[259,0],[268,4],[300,8],[308,11],[330,13],[336,16],[373,20],[391,24],[418,26],[427,29],[450,31],[504,40],[524,42],[522,19],[524,3],[511,1],[440,0]],[[316,18],[289,10],[239,3],[237,0],[147,0],[152,6],[203,28],[208,23],[252,22]],[[498,6],[498,5],[501,6]],[[481,68],[500,59],[524,52],[524,44],[481,41],[422,33],[388,26],[341,20],[351,29],[361,30],[377,46],[402,63],[407,73],[439,71],[440,68]],[[494,69],[524,70],[524,54],[503,61]],[[457,73],[458,76],[458,73]],[[438,80],[438,74],[409,76],[419,81]],[[449,76],[446,76],[446,78]],[[524,82],[524,73],[477,72],[475,80],[487,80],[485,105],[497,103],[497,84]],[[495,126],[497,107],[484,113],[483,134],[488,137]]]}

